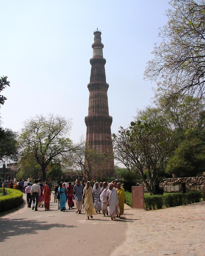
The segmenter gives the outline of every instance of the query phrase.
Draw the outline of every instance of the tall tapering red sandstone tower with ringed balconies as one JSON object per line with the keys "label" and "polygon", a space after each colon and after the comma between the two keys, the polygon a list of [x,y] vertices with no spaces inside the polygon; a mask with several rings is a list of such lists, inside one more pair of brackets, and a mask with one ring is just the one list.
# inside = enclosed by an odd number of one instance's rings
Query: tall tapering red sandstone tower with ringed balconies
{"label": "tall tapering red sandstone tower with ringed balconies", "polygon": [[107,90],[109,85],[106,83],[104,67],[106,60],[103,58],[103,47],[101,31],[97,29],[94,31],[93,58],[90,59],[90,82],[87,85],[89,106],[88,115],[85,117],[87,126],[86,145],[89,149],[108,155],[95,176],[114,177],[114,158],[112,156],[113,148],[110,129],[112,117],[109,115],[108,110]]}

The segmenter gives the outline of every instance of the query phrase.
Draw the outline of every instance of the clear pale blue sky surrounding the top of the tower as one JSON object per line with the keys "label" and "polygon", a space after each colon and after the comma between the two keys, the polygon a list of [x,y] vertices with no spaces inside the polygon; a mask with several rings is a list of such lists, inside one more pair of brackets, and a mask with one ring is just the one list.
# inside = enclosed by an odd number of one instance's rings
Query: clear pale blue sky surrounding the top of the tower
{"label": "clear pale blue sky surrounding the top of the tower", "polygon": [[2,126],[48,113],[72,117],[70,138],[86,135],[93,30],[102,31],[112,133],[127,127],[136,109],[150,104],[155,84],[143,80],[158,28],[167,22],[166,0],[0,0],[0,76],[10,87],[0,109]]}

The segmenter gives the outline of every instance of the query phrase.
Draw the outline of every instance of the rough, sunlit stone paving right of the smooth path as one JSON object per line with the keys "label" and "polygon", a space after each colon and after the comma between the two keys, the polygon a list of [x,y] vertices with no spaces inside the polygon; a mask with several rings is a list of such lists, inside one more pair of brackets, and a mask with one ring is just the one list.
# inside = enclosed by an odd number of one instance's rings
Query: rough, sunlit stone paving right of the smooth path
{"label": "rough, sunlit stone paving right of the smooth path", "polygon": [[114,255],[205,255],[205,202],[161,210],[126,210],[126,240]]}

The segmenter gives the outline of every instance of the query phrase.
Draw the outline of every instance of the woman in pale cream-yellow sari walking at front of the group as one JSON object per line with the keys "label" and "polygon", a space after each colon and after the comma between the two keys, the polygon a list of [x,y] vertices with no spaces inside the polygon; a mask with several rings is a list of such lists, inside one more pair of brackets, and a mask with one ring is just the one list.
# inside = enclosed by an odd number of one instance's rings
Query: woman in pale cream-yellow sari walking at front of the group
{"label": "woman in pale cream-yellow sari walking at front of the group", "polygon": [[94,203],[93,189],[92,189],[89,181],[87,181],[86,186],[83,189],[82,203],[84,204],[84,211],[87,215],[87,219],[89,220],[89,217],[91,217],[91,219],[92,219],[93,214],[95,214],[95,208],[93,205],[93,203]]}

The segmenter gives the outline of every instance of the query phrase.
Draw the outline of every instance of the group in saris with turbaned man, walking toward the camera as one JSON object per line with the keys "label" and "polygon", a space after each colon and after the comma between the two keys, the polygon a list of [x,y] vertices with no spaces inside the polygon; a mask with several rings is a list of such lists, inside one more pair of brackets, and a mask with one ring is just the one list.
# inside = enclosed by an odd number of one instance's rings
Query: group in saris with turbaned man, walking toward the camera
{"label": "group in saris with turbaned man, walking toward the camera", "polygon": [[[81,214],[82,205],[87,215],[87,219],[93,218],[93,214],[100,214],[102,210],[103,216],[111,217],[111,220],[119,217],[124,212],[125,191],[121,188],[120,183],[96,182],[91,187],[90,181],[76,179],[73,189],[73,199],[76,203],[76,213]],[[67,188],[68,189],[68,188]],[[72,188],[71,188],[72,190]],[[72,197],[72,194],[71,194]],[[70,197],[70,198],[71,198]],[[74,204],[73,201],[70,201]],[[69,198],[68,198],[69,205]],[[70,208],[70,206],[69,206]]]}

